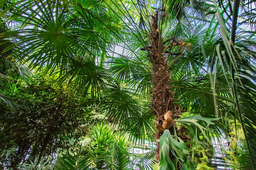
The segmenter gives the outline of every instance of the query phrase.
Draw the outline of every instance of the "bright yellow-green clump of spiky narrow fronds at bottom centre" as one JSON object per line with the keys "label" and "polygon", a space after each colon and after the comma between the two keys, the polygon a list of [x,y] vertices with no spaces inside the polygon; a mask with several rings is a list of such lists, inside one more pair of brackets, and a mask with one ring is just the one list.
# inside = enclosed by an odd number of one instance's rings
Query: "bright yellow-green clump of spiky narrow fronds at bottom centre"
{"label": "bright yellow-green clump of spiky narrow fronds at bottom centre", "polygon": [[90,155],[94,168],[110,170],[126,168],[130,162],[128,153],[130,142],[124,133],[117,132],[113,126],[97,124],[92,126],[89,136],[91,141],[86,146],[86,152]]}

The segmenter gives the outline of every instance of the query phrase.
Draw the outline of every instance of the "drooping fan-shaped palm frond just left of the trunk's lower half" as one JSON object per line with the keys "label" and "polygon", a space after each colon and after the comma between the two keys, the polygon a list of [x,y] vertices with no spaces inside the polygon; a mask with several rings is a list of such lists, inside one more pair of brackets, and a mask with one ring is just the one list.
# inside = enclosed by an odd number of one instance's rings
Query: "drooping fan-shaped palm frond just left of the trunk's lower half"
{"label": "drooping fan-shaped palm frond just left of the trunk's lower half", "polygon": [[148,110],[148,102],[119,84],[112,85],[105,96],[108,118],[113,126],[129,130],[135,139],[144,140],[146,134],[151,136],[155,123]]}

